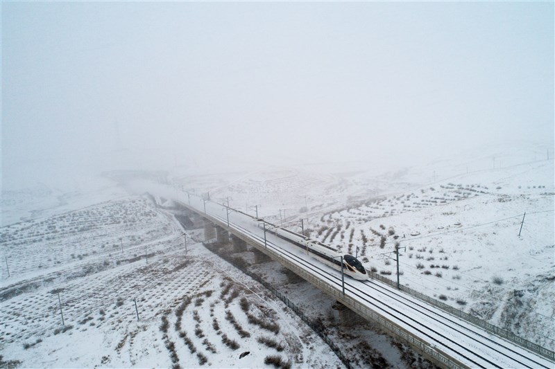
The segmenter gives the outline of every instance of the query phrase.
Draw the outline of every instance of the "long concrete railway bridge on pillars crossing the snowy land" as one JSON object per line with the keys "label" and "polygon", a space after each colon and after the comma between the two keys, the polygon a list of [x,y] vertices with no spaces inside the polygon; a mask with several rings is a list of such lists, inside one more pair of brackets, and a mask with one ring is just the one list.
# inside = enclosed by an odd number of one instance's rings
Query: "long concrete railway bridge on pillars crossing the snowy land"
{"label": "long concrete railway bridge on pillars crossing the snowy land", "polygon": [[[456,314],[415,298],[375,278],[367,282],[342,278],[341,272],[318,265],[297,246],[267,233],[255,219],[222,204],[188,194],[176,202],[191,223],[204,222],[205,239],[232,244],[237,251],[255,248],[336,299],[351,312],[378,323],[415,352],[445,368],[553,368],[554,352],[518,337],[502,337]],[[376,279],[377,276],[374,273]],[[503,333],[503,332],[502,332]],[[513,335],[514,336],[514,335]],[[516,341],[516,342],[515,342]],[[520,344],[517,344],[520,343]]]}

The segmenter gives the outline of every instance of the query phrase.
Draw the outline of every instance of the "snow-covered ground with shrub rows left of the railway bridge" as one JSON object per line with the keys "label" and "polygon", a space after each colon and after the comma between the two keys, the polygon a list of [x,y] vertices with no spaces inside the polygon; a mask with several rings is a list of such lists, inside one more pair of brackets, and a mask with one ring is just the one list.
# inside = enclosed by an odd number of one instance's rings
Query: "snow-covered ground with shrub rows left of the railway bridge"
{"label": "snow-covered ground with shrub rows left of the railway bridge", "polygon": [[[186,253],[182,227],[151,197],[104,200],[2,228],[2,367],[343,367],[287,305],[199,243],[202,231],[187,231]],[[279,264],[253,270],[355,367],[418,363],[370,324],[339,325],[334,301]]]}

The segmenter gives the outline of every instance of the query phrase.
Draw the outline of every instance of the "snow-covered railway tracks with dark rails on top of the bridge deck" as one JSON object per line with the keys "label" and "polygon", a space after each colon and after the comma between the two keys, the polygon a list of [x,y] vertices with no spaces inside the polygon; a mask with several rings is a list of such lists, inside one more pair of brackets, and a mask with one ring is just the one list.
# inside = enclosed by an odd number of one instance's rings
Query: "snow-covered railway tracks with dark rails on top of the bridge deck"
{"label": "snow-covered railway tracks with dark rails on top of the bridge deck", "polygon": [[[200,202],[202,205],[202,201]],[[207,204],[208,205],[208,204]],[[227,224],[225,208],[210,203],[207,214],[221,224]],[[195,207],[199,213],[200,208]],[[223,213],[223,214],[222,214]],[[257,221],[244,213],[230,217],[232,231],[264,244],[262,229]],[[328,285],[341,291],[341,273],[310,258],[298,246],[271,233],[266,233],[266,244],[271,251],[309,271]],[[381,282],[361,282],[345,278],[345,294],[373,309],[391,323],[418,334],[437,350],[476,368],[554,368],[554,363],[520,346],[497,337],[481,328],[461,320],[441,309],[403,294]]]}

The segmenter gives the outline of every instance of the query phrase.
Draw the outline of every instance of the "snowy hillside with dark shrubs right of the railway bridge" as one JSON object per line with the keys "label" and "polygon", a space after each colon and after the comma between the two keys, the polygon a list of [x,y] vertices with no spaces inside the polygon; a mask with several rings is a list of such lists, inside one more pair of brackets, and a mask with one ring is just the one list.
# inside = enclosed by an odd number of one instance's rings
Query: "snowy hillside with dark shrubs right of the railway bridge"
{"label": "snowy hillside with dark shrubs right of the railway bridge", "polygon": [[229,197],[252,215],[256,205],[260,217],[299,233],[303,219],[311,237],[392,280],[398,244],[403,285],[555,350],[555,174],[546,147],[364,168],[305,165],[173,183],[212,201]]}

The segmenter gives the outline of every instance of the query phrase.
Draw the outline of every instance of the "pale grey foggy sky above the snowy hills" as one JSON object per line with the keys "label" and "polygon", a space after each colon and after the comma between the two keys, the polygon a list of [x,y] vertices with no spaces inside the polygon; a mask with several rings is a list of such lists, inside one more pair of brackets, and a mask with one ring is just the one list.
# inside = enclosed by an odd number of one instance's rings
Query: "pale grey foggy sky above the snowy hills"
{"label": "pale grey foggy sky above the snowy hills", "polygon": [[121,149],[408,162],[554,141],[552,2],[3,2],[1,22],[4,180]]}

